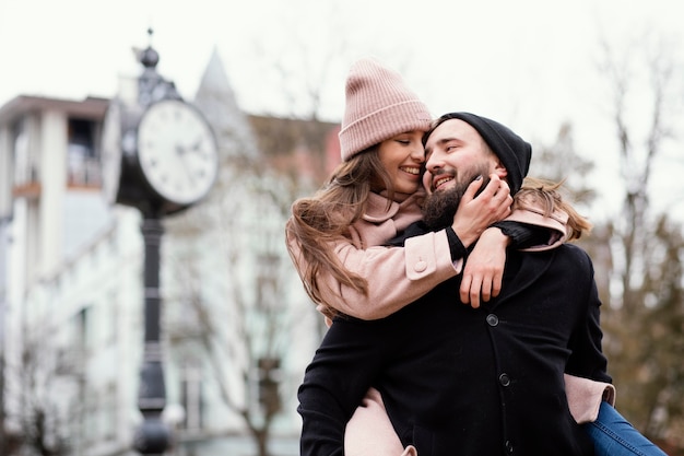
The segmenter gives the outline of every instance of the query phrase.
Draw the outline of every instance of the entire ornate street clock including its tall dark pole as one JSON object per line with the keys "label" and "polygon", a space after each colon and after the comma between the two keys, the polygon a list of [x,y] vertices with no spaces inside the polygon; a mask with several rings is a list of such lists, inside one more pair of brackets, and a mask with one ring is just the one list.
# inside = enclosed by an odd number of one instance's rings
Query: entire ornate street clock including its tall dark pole
{"label": "entire ornate street clock including its tall dark pole", "polygon": [[143,455],[162,455],[170,440],[161,420],[166,405],[160,330],[162,220],[209,192],[216,178],[217,154],[201,113],[157,73],[158,54],[149,46],[138,57],[144,70],[137,103],[113,100],[105,116],[103,189],[110,203],[135,207],[143,215],[145,325],[138,394],[143,422],[133,447]]}

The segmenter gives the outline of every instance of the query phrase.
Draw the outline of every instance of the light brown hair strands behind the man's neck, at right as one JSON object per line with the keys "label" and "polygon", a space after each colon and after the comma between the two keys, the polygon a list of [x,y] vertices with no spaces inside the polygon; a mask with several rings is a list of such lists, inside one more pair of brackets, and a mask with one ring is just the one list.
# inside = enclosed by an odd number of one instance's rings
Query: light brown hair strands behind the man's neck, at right
{"label": "light brown hair strands behind the man's neck, at right", "polygon": [[514,209],[516,207],[524,209],[527,206],[526,201],[535,201],[543,208],[545,217],[551,217],[556,210],[565,211],[568,214],[566,241],[576,241],[579,239],[582,234],[588,234],[592,225],[587,218],[580,215],[575,208],[563,198],[561,194],[562,186],[563,182],[554,183],[534,177],[526,177],[522,182],[522,188],[515,195]]}

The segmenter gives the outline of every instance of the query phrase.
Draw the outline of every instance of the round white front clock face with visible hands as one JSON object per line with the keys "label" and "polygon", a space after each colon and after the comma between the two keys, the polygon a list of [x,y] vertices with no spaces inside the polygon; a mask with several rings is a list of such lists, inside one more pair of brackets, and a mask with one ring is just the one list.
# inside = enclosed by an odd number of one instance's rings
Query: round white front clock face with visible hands
{"label": "round white front clock face with visible hands", "polygon": [[165,200],[189,204],[216,178],[216,143],[192,106],[177,100],[151,105],[138,126],[138,159],[148,184]]}

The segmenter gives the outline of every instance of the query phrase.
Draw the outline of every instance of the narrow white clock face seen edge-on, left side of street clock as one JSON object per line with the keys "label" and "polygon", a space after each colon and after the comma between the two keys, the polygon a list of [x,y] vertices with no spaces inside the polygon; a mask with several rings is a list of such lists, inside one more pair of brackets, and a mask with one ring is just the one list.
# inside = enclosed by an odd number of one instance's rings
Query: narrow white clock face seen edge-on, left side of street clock
{"label": "narrow white clock face seen edge-on, left side of street clock", "polygon": [[102,130],[102,188],[107,202],[114,204],[121,179],[121,105],[113,100],[105,113]]}

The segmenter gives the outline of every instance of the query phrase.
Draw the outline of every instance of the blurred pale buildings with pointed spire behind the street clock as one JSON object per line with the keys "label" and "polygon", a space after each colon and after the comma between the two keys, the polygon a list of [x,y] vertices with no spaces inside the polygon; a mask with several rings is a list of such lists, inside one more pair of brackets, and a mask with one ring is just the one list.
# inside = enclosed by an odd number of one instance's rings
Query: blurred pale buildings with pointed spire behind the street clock
{"label": "blurred pale buildings with pointed spire behind the street clock", "polygon": [[[216,54],[193,103],[221,171],[201,203],[164,221],[167,453],[258,455],[266,440],[296,455],[296,387],[322,321],[283,226],[339,160],[337,126],[247,116]],[[24,443],[16,454],[135,454],[144,248],[140,213],[101,192],[107,105],[19,96],[0,108],[0,418],[4,442]]]}

